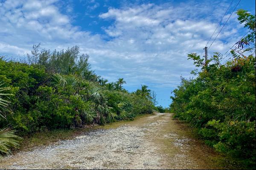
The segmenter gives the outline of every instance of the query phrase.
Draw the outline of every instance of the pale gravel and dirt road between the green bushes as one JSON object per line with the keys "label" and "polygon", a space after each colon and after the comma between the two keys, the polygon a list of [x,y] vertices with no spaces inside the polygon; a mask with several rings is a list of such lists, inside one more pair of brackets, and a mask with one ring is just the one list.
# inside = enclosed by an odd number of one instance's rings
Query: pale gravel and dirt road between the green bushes
{"label": "pale gravel and dirt road between the green bushes", "polygon": [[172,114],[155,113],[19,152],[1,160],[0,169],[220,169],[215,156]]}

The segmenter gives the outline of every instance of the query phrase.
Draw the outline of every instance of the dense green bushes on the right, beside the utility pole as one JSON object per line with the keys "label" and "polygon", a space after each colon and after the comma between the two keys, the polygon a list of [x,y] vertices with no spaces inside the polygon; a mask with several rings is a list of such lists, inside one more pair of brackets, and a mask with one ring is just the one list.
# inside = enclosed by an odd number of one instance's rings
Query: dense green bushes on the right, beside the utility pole
{"label": "dense green bushes on the right, beside the utility pole", "polygon": [[207,144],[255,169],[255,15],[245,10],[236,13],[249,34],[225,63],[218,52],[207,63],[189,54],[200,71],[192,71],[196,78],[181,78],[170,109],[176,118],[197,127]]}

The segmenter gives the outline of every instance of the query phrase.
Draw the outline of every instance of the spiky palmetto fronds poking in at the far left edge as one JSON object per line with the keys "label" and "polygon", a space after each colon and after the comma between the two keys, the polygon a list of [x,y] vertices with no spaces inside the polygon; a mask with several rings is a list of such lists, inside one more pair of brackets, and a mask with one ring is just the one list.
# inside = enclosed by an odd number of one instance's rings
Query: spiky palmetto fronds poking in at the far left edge
{"label": "spiky palmetto fronds poking in at the far left edge", "polygon": [[[5,118],[3,112],[9,111],[7,107],[10,102],[4,100],[3,96],[11,95],[9,93],[5,93],[5,91],[9,90],[10,88],[2,86],[3,84],[0,84],[0,119]],[[10,154],[10,147],[19,146],[18,139],[20,139],[20,137],[15,135],[15,130],[12,130],[12,128],[6,127],[0,130],[0,157],[3,154]]]}

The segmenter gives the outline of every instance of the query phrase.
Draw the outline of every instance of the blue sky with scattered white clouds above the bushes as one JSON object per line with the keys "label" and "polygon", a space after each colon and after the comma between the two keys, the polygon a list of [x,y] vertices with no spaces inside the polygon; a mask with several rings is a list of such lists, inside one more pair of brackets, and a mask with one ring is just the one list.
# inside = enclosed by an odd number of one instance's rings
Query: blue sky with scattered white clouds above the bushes
{"label": "blue sky with scattered white clouds above the bushes", "polygon": [[[0,54],[23,58],[33,44],[51,50],[78,45],[98,75],[124,78],[129,91],[146,84],[158,105],[168,107],[180,76],[192,76],[187,54],[203,52],[231,1],[0,0]],[[255,14],[255,1],[241,0],[236,9]],[[224,54],[245,32],[233,13],[208,55]]]}

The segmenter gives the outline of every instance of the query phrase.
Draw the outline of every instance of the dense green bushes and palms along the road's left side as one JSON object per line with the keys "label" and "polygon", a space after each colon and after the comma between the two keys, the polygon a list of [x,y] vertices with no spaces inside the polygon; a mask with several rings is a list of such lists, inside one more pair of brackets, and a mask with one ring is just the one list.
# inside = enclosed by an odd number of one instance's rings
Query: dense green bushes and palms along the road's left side
{"label": "dense green bushes and palms along the road's left side", "polygon": [[108,82],[96,75],[88,58],[78,46],[51,52],[40,44],[25,61],[0,58],[0,155],[27,135],[152,113],[148,86],[128,92],[123,78]]}

